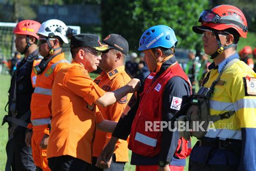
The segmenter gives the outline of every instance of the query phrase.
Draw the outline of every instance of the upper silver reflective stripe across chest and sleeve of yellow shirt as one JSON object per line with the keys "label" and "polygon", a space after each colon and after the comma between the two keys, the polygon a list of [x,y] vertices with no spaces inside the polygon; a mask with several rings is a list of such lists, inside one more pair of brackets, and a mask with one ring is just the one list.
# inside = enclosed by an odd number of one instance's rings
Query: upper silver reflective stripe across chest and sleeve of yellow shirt
{"label": "upper silver reflective stripe across chest and sleeve of yellow shirt", "polygon": [[238,111],[241,108],[254,108],[256,99],[240,99],[233,102],[221,102],[210,100],[210,108],[216,111]]}

